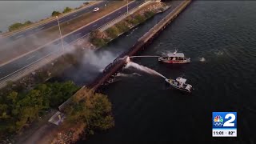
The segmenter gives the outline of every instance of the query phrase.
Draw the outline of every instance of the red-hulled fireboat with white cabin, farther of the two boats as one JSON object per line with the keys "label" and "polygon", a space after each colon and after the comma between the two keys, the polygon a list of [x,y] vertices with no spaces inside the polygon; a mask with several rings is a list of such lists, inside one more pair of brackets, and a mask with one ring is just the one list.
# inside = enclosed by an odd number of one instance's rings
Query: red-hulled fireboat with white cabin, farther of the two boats
{"label": "red-hulled fireboat with white cabin, farther of the two boats", "polygon": [[158,57],[159,62],[165,63],[189,63],[190,58],[186,58],[183,53],[177,53],[177,50],[173,54],[169,54],[166,57]]}

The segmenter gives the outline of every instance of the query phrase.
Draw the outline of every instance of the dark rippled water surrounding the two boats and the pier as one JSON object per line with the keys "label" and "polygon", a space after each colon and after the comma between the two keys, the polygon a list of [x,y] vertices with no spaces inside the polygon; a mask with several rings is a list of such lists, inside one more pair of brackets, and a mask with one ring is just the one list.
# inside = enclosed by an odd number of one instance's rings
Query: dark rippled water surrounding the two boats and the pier
{"label": "dark rippled water surrounding the two boats and the pier", "polygon": [[[141,54],[166,54],[176,48],[192,62],[179,66],[160,64],[156,58],[134,62],[168,78],[187,78],[195,88],[193,94],[168,89],[161,77],[125,70],[142,76],[119,78],[102,90],[113,103],[115,126],[86,143],[256,143],[255,7],[256,2],[192,2]],[[82,84],[94,78],[106,66],[95,63],[111,62],[162,15],[118,38],[96,56],[87,55],[87,61],[66,71],[62,80]],[[200,61],[202,57],[205,62]],[[213,111],[238,112],[237,138],[211,137]]]}

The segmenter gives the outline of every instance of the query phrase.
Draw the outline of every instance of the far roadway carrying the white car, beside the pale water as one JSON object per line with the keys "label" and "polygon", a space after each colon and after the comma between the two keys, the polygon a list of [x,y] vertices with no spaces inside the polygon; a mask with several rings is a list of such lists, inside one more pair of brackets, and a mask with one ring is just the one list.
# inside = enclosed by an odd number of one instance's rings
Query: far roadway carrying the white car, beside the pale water
{"label": "far roadway carrying the white car, beside the pale water", "polygon": [[[99,7],[100,8],[102,6],[105,6],[105,4],[107,4],[107,3],[109,3],[109,1],[103,1],[103,2],[99,2],[99,3],[97,3],[95,5],[92,5],[92,6],[88,6],[88,7],[84,8],[84,9],[82,9],[82,10],[78,10],[78,11],[72,13],[72,14],[68,14],[68,15],[66,15],[66,16],[64,16],[62,18],[59,18],[59,22],[62,23],[62,22],[70,21],[73,18],[77,18],[77,17],[81,16],[82,14],[85,14],[87,12],[90,12],[90,11],[94,10],[94,7]],[[17,40],[19,38],[24,38],[24,37],[26,37],[26,36],[28,36],[30,34],[34,34],[34,33],[38,32],[38,31],[46,30],[46,29],[49,29],[52,26],[57,26],[57,25],[58,25],[58,22],[57,22],[57,19],[56,19],[54,21],[47,22],[47,23],[42,24],[40,26],[35,26],[35,27],[31,28],[31,29],[23,30],[21,32],[12,34],[12,35],[10,35],[8,37],[5,37],[5,38],[8,38],[8,39],[10,39],[12,41],[15,41],[15,40]],[[0,41],[1,41],[1,39],[0,39]]]}

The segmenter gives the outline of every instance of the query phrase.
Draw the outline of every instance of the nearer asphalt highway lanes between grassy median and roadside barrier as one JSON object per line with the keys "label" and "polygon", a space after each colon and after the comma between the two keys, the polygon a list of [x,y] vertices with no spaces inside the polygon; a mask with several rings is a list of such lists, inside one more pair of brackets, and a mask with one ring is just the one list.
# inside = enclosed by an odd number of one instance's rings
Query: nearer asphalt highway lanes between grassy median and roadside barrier
{"label": "nearer asphalt highway lanes between grassy median and roadside barrier", "polygon": [[[129,9],[138,7],[143,2],[144,1],[131,2],[129,4]],[[78,38],[82,38],[86,34],[89,34],[91,30],[96,30],[101,26],[104,26],[107,22],[114,20],[114,18],[117,18],[122,14],[126,14],[126,12],[127,12],[127,8],[123,7],[122,9],[117,10],[112,14],[106,15],[106,17],[101,18],[96,22],[93,22],[90,25],[83,27],[81,30],[78,30],[72,34],[67,35],[65,38],[63,38],[64,43],[66,43],[65,48],[68,48],[68,47],[70,48],[70,46],[68,45],[71,42],[74,42]],[[57,52],[58,50],[62,50],[61,40],[56,40],[50,46],[45,46],[42,49],[34,51],[30,54],[27,54],[22,58],[18,58],[13,62],[7,63],[4,66],[0,66],[0,80],[2,80],[3,78],[6,78],[10,74],[13,74],[19,70],[22,70],[24,67],[29,66],[33,62],[37,62],[38,60],[46,57],[49,54],[53,54],[54,52]]]}

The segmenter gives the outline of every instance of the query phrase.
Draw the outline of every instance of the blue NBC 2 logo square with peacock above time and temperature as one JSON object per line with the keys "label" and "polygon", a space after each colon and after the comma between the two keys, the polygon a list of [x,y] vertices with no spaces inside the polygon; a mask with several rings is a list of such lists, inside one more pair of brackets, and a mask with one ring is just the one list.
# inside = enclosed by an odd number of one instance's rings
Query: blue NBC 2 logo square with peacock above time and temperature
{"label": "blue NBC 2 logo square with peacock above time and temperature", "polygon": [[213,128],[236,128],[236,112],[213,112]]}

